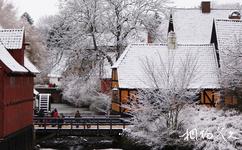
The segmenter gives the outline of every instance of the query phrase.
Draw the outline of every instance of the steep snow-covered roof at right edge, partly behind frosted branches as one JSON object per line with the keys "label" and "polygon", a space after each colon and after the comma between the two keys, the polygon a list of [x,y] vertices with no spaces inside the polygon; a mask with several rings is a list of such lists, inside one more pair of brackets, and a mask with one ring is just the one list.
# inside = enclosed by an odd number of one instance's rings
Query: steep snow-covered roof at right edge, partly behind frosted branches
{"label": "steep snow-covered roof at right edge, partly behind frosted branches", "polygon": [[[215,29],[218,42],[221,67],[228,63],[227,59],[238,54],[236,46],[242,44],[242,20],[237,19],[215,19]],[[235,59],[235,58],[233,58]]]}

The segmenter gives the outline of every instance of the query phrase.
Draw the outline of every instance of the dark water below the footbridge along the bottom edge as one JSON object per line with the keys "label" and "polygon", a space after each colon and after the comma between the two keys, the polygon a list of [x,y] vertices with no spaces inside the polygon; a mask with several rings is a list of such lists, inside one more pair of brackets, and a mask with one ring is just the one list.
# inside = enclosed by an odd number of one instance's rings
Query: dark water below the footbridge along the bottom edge
{"label": "dark water below the footbridge along the bottom edge", "polygon": [[41,143],[40,150],[150,150],[125,136],[115,137],[55,137]]}

